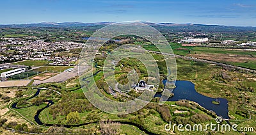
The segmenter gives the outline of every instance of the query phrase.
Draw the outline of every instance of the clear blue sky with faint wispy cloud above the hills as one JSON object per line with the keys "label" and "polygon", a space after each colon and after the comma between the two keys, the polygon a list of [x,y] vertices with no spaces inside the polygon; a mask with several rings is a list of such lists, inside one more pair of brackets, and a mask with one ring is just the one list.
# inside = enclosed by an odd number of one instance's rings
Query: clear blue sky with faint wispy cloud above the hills
{"label": "clear blue sky with faint wispy cloud above the hills", "polygon": [[256,26],[255,0],[6,0],[0,24],[173,22]]}

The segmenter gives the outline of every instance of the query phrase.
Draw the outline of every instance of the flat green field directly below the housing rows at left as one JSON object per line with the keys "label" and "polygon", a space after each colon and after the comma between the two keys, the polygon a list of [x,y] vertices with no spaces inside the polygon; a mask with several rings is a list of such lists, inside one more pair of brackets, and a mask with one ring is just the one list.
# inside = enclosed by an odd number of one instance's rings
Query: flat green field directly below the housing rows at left
{"label": "flat green field directly below the housing rows at left", "polygon": [[24,65],[24,66],[31,66],[31,67],[40,67],[51,63],[51,61],[45,60],[25,60],[13,63],[14,65]]}

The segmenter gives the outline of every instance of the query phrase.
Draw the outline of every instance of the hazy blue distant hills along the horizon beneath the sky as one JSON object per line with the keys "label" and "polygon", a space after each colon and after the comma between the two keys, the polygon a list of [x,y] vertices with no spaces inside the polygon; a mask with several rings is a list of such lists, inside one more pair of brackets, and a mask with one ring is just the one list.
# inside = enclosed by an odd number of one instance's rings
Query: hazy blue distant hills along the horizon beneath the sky
{"label": "hazy blue distant hills along the horizon beneath the sky", "polygon": [[[36,24],[9,24],[0,25],[0,28],[81,28],[88,26],[97,26],[101,28],[113,22],[96,22],[96,23],[83,23],[83,22],[42,22]],[[160,31],[201,31],[201,32],[243,32],[253,31],[256,32],[256,27],[242,27],[242,26],[220,26],[220,25],[206,25],[206,24],[175,24],[175,23],[151,23],[144,22]],[[98,27],[99,26],[99,27]]]}

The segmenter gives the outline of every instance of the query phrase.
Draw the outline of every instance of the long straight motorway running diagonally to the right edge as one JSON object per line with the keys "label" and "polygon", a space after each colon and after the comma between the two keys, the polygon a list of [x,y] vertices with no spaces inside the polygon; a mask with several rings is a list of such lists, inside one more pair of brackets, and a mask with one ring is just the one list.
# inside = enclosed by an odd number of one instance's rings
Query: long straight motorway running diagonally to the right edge
{"label": "long straight motorway running diagonally to the right edge", "polygon": [[218,62],[215,62],[215,61],[202,60],[202,59],[198,59],[198,58],[193,58],[193,57],[188,57],[188,56],[181,56],[181,55],[170,54],[170,53],[165,53],[165,52],[156,52],[156,51],[149,51],[149,52],[153,52],[153,53],[156,53],[156,54],[164,54],[164,55],[169,55],[169,56],[175,56],[177,58],[182,58],[182,59],[186,59],[186,60],[193,60],[193,61],[197,61],[197,62],[211,63],[211,64],[215,64],[215,65],[218,65],[218,66],[221,66],[221,67],[234,68],[234,69],[237,69],[237,70],[244,70],[244,71],[247,71],[247,72],[256,73],[256,70],[237,67],[237,66],[233,66],[233,65],[227,65],[227,64],[218,63]]}

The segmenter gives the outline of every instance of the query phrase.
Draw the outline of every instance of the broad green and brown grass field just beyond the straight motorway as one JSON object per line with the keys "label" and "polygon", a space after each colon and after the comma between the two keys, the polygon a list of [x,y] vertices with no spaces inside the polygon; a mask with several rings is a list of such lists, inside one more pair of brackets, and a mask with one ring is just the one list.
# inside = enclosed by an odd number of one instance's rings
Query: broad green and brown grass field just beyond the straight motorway
{"label": "broad green and brown grass field just beyond the straight motorway", "polygon": [[[256,70],[256,52],[243,51],[243,49],[223,49],[211,47],[182,47],[181,44],[170,43],[174,54],[191,56],[204,60],[235,65],[238,67]],[[145,49],[159,51],[155,45],[142,45]],[[168,47],[163,46],[163,52],[171,53]]]}

